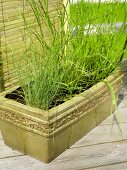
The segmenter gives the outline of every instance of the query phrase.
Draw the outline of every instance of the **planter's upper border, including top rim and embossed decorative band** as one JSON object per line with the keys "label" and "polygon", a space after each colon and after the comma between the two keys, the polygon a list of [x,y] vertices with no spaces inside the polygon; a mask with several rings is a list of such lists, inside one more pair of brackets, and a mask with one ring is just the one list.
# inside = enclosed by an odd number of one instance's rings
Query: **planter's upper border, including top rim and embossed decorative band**
{"label": "planter's upper border, including top rim and embossed decorative band", "polygon": [[114,92],[118,92],[122,84],[122,77],[122,72],[112,74],[82,94],[49,111],[6,99],[4,98],[8,92],[6,91],[0,96],[0,119],[38,135],[51,137],[54,133],[56,134],[80,120],[92,110],[96,110],[101,103],[111,96],[108,83],[112,85]]}

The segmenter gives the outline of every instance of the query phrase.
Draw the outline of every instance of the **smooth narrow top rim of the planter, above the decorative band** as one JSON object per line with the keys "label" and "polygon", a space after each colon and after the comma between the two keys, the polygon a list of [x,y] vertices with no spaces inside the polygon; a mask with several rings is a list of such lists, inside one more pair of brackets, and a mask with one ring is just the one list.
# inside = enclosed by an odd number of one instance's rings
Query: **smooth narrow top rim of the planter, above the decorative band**
{"label": "smooth narrow top rim of the planter, above the decorative band", "polygon": [[103,81],[93,85],[88,90],[85,90],[83,93],[78,94],[78,95],[72,97],[70,100],[64,102],[63,104],[58,105],[54,108],[51,108],[50,110],[47,110],[47,111],[42,110],[42,109],[38,109],[38,108],[34,108],[34,107],[31,107],[31,106],[27,106],[27,105],[24,105],[22,103],[16,102],[12,99],[5,98],[6,94],[11,93],[15,89],[17,89],[19,86],[15,86],[15,87],[13,87],[9,90],[2,92],[0,94],[0,104],[1,105],[7,104],[8,106],[13,107],[13,109],[18,109],[19,111],[27,110],[31,114],[33,113],[32,115],[37,116],[37,118],[41,117],[43,120],[52,120],[54,117],[59,116],[62,113],[64,113],[64,112],[76,107],[77,105],[81,104],[82,102],[84,102],[85,98],[87,98],[88,101],[89,101],[89,97],[94,98],[94,95],[93,95],[94,93],[98,94],[98,95],[100,93],[102,93],[102,91],[105,88],[108,88],[108,85],[105,86],[106,82],[107,83],[109,82],[109,83],[112,84],[117,79],[121,79],[122,77],[123,77],[122,71],[115,72],[115,73],[109,75]]}

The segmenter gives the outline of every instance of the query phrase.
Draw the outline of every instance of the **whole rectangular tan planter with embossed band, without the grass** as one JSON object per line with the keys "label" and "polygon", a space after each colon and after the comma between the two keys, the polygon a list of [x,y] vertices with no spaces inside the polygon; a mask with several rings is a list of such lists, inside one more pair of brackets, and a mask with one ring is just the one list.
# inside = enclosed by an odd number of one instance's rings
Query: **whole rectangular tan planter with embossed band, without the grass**
{"label": "whole rectangular tan planter with embossed band, without the grass", "polygon": [[0,126],[5,144],[50,162],[107,118],[115,107],[109,85],[118,97],[122,73],[109,76],[87,91],[48,111],[0,96]]}

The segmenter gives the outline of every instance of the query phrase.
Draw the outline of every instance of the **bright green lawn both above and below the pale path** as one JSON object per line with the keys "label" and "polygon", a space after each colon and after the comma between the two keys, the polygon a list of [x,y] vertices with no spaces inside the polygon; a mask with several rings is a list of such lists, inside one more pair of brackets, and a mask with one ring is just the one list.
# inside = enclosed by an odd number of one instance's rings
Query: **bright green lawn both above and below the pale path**
{"label": "bright green lawn both above and below the pale path", "polygon": [[[71,4],[70,21],[72,26],[80,26],[84,29],[85,24],[103,24],[127,22],[127,3],[85,3]],[[113,41],[115,46],[124,46],[127,33],[119,31]],[[119,36],[120,35],[120,36]],[[94,37],[94,35],[91,35]],[[103,35],[100,35],[103,39]],[[95,37],[94,37],[95,38]],[[107,41],[108,43],[108,41]],[[119,44],[119,45],[118,45]],[[127,52],[125,52],[127,56]]]}

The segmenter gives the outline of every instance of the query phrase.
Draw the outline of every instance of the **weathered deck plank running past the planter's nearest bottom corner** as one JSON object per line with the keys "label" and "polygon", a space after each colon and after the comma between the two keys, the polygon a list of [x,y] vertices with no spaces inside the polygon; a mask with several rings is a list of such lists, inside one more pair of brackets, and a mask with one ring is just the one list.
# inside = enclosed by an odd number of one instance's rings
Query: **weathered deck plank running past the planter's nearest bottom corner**
{"label": "weathered deck plank running past the planter's nearest bottom corner", "polygon": [[4,170],[22,168],[23,170],[68,170],[90,169],[127,161],[127,141],[98,146],[69,149],[50,164],[41,163],[29,156],[11,157],[0,159],[0,167]]}

